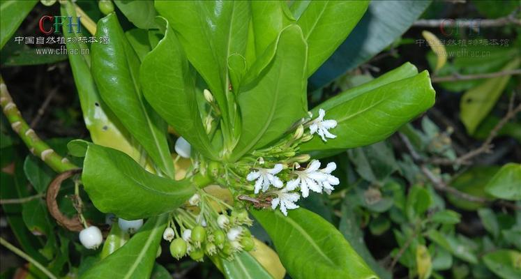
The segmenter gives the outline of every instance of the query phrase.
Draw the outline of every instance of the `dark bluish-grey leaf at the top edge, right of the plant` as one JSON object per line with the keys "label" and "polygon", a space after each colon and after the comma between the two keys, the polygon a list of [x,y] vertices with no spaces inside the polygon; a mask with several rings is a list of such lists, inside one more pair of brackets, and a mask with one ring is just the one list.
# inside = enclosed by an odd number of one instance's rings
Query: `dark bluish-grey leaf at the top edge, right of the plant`
{"label": "dark bluish-grey leaf at the top edge, right of the plant", "polygon": [[371,1],[347,39],[310,77],[310,86],[322,88],[382,52],[411,27],[430,2]]}

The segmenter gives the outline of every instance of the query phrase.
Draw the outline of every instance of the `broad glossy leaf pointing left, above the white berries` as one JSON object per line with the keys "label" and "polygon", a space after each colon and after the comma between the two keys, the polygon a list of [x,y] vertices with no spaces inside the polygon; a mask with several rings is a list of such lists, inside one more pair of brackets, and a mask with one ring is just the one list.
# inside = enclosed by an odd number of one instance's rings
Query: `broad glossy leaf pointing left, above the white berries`
{"label": "broad glossy leaf pointing left, above the white berries", "polygon": [[90,144],[82,181],[94,206],[127,220],[173,211],[195,192],[190,181],[156,176],[121,151]]}

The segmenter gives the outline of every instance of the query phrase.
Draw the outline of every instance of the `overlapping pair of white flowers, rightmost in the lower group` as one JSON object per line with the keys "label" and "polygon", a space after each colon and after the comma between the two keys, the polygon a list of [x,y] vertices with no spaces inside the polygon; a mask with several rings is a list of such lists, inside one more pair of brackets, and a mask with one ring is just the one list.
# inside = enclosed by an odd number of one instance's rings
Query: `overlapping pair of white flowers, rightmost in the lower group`
{"label": "overlapping pair of white flowers, rightmost in the lower group", "polygon": [[301,188],[302,197],[308,197],[310,190],[316,193],[331,193],[333,185],[338,185],[340,181],[338,178],[331,175],[331,172],[336,169],[335,163],[329,163],[324,169],[319,169],[320,162],[312,160],[308,167],[302,171],[295,171],[296,179],[287,182],[286,188],[288,190],[295,190],[297,187]]}

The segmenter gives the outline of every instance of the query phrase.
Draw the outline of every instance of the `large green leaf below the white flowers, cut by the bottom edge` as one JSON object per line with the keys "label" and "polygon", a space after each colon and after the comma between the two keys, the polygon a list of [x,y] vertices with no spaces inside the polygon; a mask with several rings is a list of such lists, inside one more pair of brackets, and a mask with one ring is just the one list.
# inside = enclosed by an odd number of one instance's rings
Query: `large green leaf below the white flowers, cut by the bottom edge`
{"label": "large green leaf below the white flowers, cut by the bottom edge", "polygon": [[377,278],[333,225],[306,209],[251,211],[293,278]]}

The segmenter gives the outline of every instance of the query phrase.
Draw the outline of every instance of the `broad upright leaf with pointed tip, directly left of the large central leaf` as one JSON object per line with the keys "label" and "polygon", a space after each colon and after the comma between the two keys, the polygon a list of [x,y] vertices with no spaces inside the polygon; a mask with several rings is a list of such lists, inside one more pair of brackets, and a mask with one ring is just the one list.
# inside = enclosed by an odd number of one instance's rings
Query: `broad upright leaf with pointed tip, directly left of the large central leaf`
{"label": "broad upright leaf with pointed tip, directly left of the large central leaf", "polygon": [[165,37],[146,55],[140,69],[144,96],[185,140],[204,156],[215,160],[216,151],[202,126],[197,108],[195,77],[168,22],[165,30]]}

